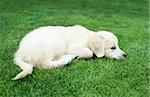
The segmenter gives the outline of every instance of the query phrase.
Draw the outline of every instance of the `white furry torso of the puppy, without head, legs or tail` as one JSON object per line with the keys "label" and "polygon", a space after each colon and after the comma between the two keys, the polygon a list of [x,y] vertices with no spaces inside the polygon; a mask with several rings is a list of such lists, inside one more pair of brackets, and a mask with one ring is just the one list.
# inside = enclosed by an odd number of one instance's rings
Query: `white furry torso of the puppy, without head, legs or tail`
{"label": "white furry torso of the puppy, without head, legs or tail", "polygon": [[87,47],[86,29],[74,27],[41,27],[27,34],[17,52],[24,61],[43,66],[48,60],[68,54],[72,49]]}

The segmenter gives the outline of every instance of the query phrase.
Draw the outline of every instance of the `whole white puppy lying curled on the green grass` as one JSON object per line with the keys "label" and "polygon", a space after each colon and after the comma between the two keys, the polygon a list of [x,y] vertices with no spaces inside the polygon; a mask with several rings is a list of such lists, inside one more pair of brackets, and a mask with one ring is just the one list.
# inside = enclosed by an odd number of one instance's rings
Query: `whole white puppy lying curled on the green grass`
{"label": "whole white puppy lying curled on the green grass", "polygon": [[76,57],[91,58],[93,53],[98,58],[124,59],[126,56],[118,46],[117,37],[111,32],[93,32],[80,25],[40,27],[20,42],[14,62],[23,71],[13,80],[32,74],[33,67],[56,68]]}

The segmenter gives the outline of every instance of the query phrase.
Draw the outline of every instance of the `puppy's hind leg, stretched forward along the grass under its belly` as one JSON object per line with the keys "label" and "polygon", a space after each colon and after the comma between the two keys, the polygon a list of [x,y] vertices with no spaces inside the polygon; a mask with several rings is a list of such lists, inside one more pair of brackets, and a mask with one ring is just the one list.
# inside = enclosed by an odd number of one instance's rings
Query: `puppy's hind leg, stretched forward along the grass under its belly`
{"label": "puppy's hind leg, stretched forward along the grass under its belly", "polygon": [[75,57],[75,55],[63,55],[56,61],[50,60],[45,68],[56,68],[64,66],[70,63]]}

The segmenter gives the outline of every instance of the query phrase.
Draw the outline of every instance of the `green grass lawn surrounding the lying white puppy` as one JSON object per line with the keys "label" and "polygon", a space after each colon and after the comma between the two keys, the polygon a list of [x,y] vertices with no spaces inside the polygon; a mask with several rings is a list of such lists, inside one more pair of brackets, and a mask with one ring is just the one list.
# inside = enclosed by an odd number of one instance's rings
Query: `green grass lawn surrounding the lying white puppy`
{"label": "green grass lawn surrounding the lying white puppy", "polygon": [[[0,97],[149,97],[148,0],[0,0]],[[115,33],[126,60],[80,59],[68,66],[21,70],[13,55],[21,38],[47,25],[80,24]],[[35,48],[36,49],[36,48]]]}

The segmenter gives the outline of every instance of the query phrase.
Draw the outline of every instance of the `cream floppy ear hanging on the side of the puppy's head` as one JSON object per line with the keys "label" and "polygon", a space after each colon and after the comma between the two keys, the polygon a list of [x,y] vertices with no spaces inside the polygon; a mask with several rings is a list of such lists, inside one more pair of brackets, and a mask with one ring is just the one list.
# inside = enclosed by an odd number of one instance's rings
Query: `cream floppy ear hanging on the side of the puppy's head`
{"label": "cream floppy ear hanging on the side of the puppy's head", "polygon": [[100,58],[104,56],[105,40],[101,36],[93,35],[89,41],[89,47]]}

